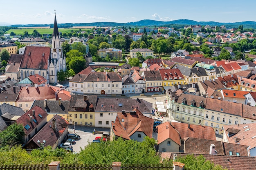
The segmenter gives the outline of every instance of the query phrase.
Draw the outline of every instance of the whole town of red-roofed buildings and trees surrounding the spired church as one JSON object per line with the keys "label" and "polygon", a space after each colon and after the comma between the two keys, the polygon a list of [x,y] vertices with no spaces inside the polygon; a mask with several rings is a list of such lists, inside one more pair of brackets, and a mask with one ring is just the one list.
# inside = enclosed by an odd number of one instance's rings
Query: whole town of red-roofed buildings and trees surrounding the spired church
{"label": "whole town of red-roofed buildings and trees surrounding the spired church", "polygon": [[155,139],[163,160],[194,154],[256,169],[253,31],[96,27],[70,39],[59,31],[55,15],[52,36],[4,34],[0,44],[0,131],[21,124],[22,148],[75,150],[81,141],[65,139],[89,128],[102,137],[90,142]]}

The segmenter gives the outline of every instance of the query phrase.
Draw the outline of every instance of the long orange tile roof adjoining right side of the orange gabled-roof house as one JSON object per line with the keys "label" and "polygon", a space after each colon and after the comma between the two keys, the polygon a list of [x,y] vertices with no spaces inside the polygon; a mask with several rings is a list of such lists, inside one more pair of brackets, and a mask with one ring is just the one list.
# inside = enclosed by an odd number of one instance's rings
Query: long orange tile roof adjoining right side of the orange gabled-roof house
{"label": "long orange tile roof adjoining right side of the orange gabled-roof house", "polygon": [[216,140],[215,131],[209,126],[171,122],[171,125],[180,133],[180,138],[195,137],[198,139]]}

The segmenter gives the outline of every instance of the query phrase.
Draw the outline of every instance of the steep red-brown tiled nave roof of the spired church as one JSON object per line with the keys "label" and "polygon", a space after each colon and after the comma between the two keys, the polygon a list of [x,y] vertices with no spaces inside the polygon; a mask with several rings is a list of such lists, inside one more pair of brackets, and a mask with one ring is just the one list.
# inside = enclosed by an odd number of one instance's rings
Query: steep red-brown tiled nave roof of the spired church
{"label": "steep red-brown tiled nave roof of the spired church", "polygon": [[47,70],[50,55],[50,47],[26,46],[20,68]]}

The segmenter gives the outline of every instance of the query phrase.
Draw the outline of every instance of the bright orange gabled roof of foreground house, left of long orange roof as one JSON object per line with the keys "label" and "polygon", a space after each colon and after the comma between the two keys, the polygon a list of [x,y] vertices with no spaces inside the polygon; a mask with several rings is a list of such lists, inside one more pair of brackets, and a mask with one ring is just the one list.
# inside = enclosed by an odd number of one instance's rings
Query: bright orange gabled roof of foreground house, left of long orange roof
{"label": "bright orange gabled roof of foreground house, left of long orange roof", "polygon": [[166,139],[171,139],[173,142],[181,146],[180,134],[179,132],[171,125],[171,122],[165,122],[157,126],[157,144],[161,144]]}

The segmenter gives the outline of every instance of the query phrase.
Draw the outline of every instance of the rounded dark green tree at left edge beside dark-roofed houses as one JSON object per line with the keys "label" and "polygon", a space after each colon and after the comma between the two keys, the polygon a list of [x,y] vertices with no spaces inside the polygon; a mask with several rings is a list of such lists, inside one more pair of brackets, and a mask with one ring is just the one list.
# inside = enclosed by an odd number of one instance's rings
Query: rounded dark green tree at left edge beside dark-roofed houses
{"label": "rounded dark green tree at left edge beside dark-roofed houses", "polygon": [[21,124],[11,124],[0,133],[0,144],[2,146],[14,146],[23,144],[24,128]]}

